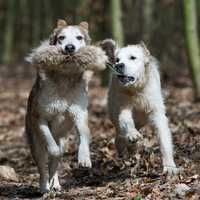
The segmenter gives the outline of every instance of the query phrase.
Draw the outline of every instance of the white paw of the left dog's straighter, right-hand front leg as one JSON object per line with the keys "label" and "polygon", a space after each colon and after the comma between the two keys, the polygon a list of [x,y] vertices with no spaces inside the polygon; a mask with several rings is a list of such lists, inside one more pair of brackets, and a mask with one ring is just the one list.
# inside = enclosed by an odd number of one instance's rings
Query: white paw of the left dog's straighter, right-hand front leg
{"label": "white paw of the left dog's straighter, right-hand front leg", "polygon": [[81,167],[88,167],[88,168],[92,167],[89,150],[81,148],[79,149],[78,164]]}

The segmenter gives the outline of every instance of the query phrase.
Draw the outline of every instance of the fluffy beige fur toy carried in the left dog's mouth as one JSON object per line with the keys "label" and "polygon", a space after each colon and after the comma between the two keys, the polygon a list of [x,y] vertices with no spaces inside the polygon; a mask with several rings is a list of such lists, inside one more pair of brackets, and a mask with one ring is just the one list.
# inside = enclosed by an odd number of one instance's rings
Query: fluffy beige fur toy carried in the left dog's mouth
{"label": "fluffy beige fur toy carried in the left dog's mouth", "polygon": [[72,74],[85,70],[104,70],[107,56],[101,48],[91,45],[80,48],[72,55],[65,55],[60,48],[45,41],[33,50],[27,61],[39,69]]}

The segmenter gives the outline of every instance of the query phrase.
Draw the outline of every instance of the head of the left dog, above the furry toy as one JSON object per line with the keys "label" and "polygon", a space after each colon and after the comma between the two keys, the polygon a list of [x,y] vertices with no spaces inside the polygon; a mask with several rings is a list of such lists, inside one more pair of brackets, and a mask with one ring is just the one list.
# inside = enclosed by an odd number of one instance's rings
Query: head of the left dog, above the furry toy
{"label": "head of the left dog, above the furry toy", "polygon": [[72,26],[67,25],[65,20],[59,19],[57,27],[50,36],[50,45],[61,48],[64,54],[72,54],[90,44],[90,40],[87,22]]}

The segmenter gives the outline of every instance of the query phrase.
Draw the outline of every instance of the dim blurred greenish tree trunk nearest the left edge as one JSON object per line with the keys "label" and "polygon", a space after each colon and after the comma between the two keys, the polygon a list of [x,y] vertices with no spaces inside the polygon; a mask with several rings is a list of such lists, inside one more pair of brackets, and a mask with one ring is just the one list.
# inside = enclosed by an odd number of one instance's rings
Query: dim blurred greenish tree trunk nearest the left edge
{"label": "dim blurred greenish tree trunk nearest the left edge", "polygon": [[3,63],[10,63],[12,60],[14,21],[15,21],[15,0],[7,0],[6,26],[4,32]]}

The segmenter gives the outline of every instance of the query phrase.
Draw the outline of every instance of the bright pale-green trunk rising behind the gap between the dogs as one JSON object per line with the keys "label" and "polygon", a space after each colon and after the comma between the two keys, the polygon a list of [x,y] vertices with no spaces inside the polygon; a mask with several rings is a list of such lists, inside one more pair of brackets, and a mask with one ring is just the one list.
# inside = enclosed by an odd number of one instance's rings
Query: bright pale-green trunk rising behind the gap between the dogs
{"label": "bright pale-green trunk rising behind the gap between the dogs", "polygon": [[112,36],[117,43],[122,46],[124,44],[124,35],[122,27],[122,8],[120,0],[110,0],[111,27]]}

